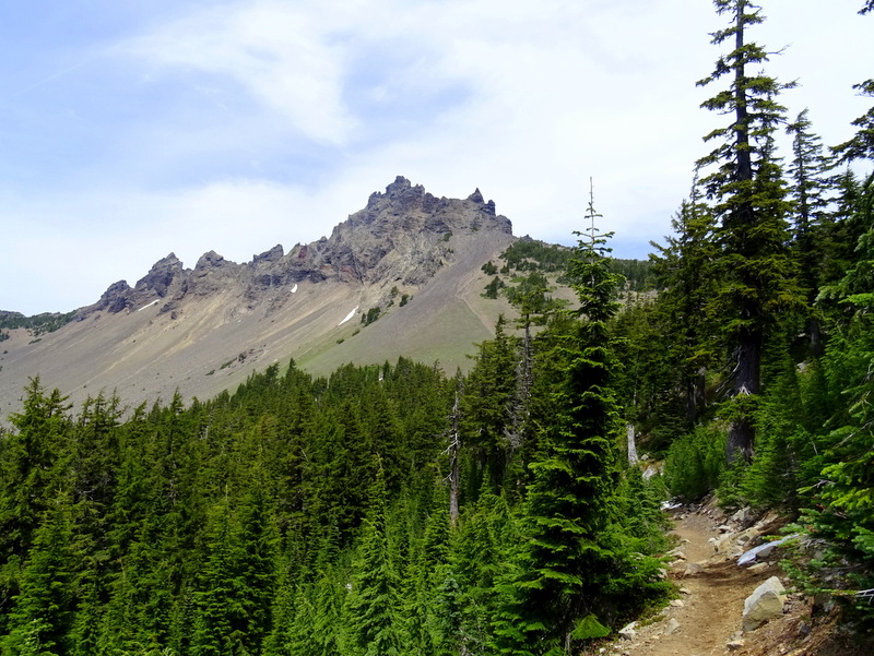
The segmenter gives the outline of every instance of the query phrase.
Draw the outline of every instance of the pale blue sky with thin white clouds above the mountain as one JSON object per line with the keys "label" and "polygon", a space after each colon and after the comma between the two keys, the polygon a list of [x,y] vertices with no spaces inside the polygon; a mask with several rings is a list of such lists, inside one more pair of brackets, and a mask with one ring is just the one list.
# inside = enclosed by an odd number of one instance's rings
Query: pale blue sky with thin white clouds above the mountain
{"label": "pale blue sky with thin white clouds above the mountain", "polygon": [[[764,0],[834,144],[870,99],[862,0]],[[397,175],[569,243],[588,180],[646,257],[722,124],[706,0],[0,0],[0,309],[68,311],[170,251],[309,242]]]}

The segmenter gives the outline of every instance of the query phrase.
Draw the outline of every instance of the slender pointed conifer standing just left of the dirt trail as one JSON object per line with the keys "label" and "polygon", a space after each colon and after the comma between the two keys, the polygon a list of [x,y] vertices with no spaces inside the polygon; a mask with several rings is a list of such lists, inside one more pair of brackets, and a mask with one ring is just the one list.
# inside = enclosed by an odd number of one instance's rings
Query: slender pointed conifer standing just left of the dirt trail
{"label": "slender pointed conifer standing just left of the dirt trail", "polygon": [[[592,227],[580,239],[568,275],[582,318],[563,344],[564,384],[555,392],[563,414],[546,457],[532,463],[528,537],[515,601],[500,632],[505,648],[570,654],[581,640],[603,635],[600,609],[612,553],[600,540],[614,508],[617,405],[611,387],[616,365],[607,321],[617,312],[619,276],[610,272],[605,239]],[[521,644],[520,644],[521,643]]]}

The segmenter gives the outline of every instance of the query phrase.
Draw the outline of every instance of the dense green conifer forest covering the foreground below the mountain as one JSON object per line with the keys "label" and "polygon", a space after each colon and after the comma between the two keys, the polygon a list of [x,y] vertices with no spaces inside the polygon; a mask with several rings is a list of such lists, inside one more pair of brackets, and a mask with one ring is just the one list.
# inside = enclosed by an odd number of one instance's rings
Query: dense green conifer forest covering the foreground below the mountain
{"label": "dense green conifer forest covering the foreground below the mountain", "polygon": [[874,106],[823,144],[767,7],[713,4],[671,234],[617,263],[592,196],[575,248],[519,242],[519,319],[466,373],[291,362],[138,408],[35,374],[0,429],[0,654],[579,654],[670,597],[662,502],[710,493],[788,514],[795,584],[872,627]]}

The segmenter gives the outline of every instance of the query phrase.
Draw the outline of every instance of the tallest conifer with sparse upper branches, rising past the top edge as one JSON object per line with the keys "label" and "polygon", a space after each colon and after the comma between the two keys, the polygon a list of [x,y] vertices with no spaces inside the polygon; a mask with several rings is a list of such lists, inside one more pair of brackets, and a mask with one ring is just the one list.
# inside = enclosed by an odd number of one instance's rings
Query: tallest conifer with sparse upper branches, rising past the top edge
{"label": "tallest conifer with sparse upper branches, rising past the top edge", "polygon": [[717,13],[728,14],[730,25],[712,35],[714,45],[734,40],[733,49],[717,61],[713,73],[698,82],[708,85],[725,75],[729,87],[701,106],[732,116],[729,126],[705,136],[719,140],[701,167],[716,167],[702,179],[714,201],[720,220],[717,231],[722,253],[717,275],[722,284],[717,296],[727,317],[727,334],[733,349],[733,403],[727,443],[730,460],[753,456],[753,406],[760,393],[761,349],[765,333],[776,314],[800,303],[794,271],[787,250],[790,207],[786,200],[772,134],[783,122],[786,109],[775,98],[792,84],[781,84],[764,72],[749,75],[749,67],[768,60],[767,51],[745,40],[748,27],[764,21],[749,0],[714,0]]}

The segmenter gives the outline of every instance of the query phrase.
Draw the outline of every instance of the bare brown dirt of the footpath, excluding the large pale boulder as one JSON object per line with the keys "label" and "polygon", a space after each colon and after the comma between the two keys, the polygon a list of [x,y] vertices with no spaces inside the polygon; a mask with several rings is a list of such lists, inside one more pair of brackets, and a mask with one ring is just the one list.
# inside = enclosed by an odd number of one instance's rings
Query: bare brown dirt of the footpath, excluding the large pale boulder
{"label": "bare brown dirt of the footpath, excluding the large pale boulder", "polygon": [[[714,553],[708,542],[718,536],[717,522],[708,509],[677,513],[674,533],[686,557],[671,568],[680,587],[681,605],[668,606],[650,623],[638,623],[633,641],[618,639],[599,645],[591,653],[604,656],[872,656],[874,644],[840,630],[837,611],[813,612],[810,599],[790,594],[783,617],[743,633],[744,599],[770,576],[788,577],[771,566],[754,573],[740,568],[735,559]],[[685,563],[698,563],[701,571],[685,575]],[[680,625],[665,630],[675,619]],[[729,643],[734,642],[730,647]]]}

